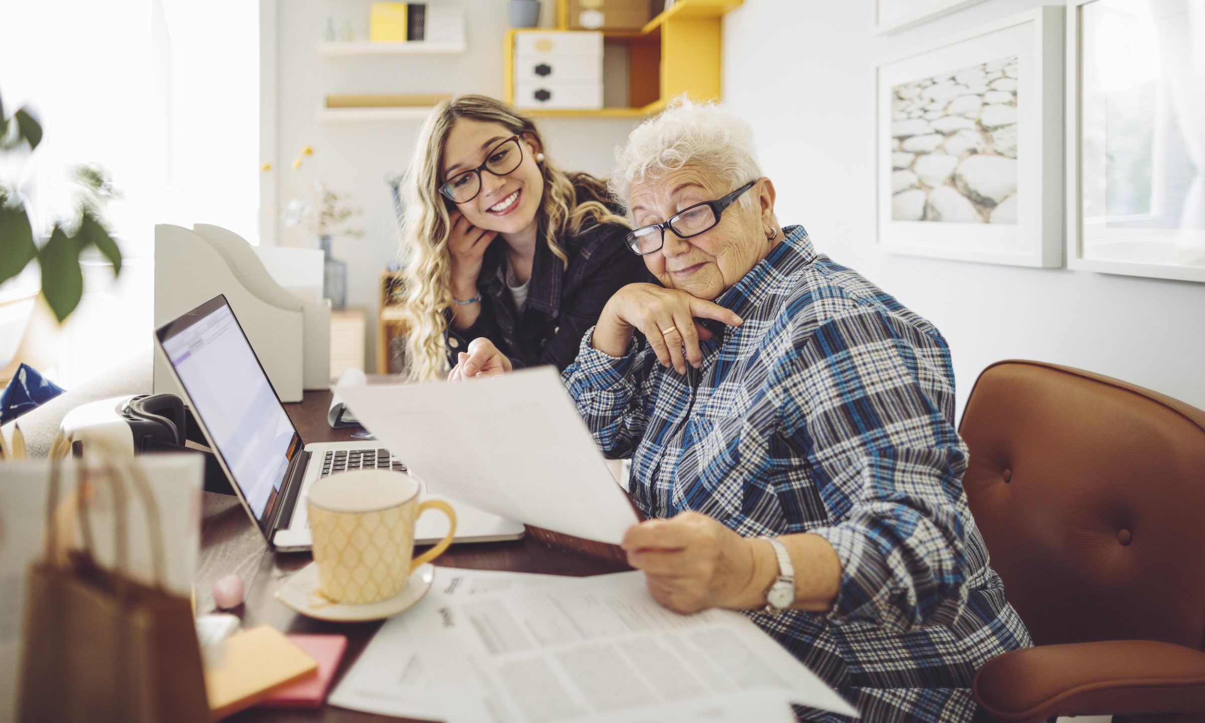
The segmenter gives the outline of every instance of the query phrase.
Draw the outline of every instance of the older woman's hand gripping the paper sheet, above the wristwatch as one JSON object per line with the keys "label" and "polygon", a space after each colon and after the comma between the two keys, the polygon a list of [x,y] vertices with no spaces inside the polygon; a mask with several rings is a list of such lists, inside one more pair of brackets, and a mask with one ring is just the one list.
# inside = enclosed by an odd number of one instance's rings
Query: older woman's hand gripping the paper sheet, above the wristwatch
{"label": "older woman's hand gripping the paper sheet, above the wristwatch", "polygon": [[675,612],[750,606],[757,575],[753,541],[706,515],[642,522],[622,545],[628,564],[645,571],[653,599]]}

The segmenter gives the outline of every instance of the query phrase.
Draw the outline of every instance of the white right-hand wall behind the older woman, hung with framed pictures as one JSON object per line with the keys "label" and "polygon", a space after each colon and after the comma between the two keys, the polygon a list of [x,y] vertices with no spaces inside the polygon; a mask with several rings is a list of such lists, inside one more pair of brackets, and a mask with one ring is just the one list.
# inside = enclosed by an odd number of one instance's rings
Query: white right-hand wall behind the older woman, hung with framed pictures
{"label": "white right-hand wall behind the older woman, hung with framed pictures", "polygon": [[[959,410],[992,362],[1106,374],[1205,407],[1205,283],[888,255],[875,246],[877,58],[1040,5],[987,0],[889,36],[871,0],[745,0],[724,22],[724,94],[754,127],[778,218],[933,321]],[[959,412],[960,413],[960,412]]]}

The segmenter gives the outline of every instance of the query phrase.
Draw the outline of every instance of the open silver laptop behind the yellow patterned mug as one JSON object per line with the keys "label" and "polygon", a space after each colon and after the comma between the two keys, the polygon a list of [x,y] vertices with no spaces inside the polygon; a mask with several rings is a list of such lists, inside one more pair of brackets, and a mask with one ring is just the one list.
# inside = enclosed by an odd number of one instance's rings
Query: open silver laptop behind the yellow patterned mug
{"label": "open silver laptop behind the yellow patterned mug", "polygon": [[[269,548],[280,552],[311,548],[305,495],[318,480],[358,469],[407,472],[401,460],[372,441],[307,445],[286,413],[224,295],[157,329],[155,342],[222,471]],[[419,488],[425,492],[422,481]],[[423,494],[424,499],[433,496]],[[454,542],[523,536],[524,528],[518,522],[448,501],[457,512]],[[415,543],[439,542],[447,529],[443,515],[421,516]]]}

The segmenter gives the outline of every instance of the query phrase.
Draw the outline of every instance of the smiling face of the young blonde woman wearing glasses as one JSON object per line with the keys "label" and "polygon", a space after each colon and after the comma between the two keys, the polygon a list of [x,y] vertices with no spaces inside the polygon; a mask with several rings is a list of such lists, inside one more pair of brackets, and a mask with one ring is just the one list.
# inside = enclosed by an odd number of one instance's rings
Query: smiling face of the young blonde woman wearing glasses
{"label": "smiling face of the young blonde woman wearing glasses", "polygon": [[[440,183],[449,181],[457,174],[480,166],[490,154],[506,152],[495,151],[499,143],[513,136],[501,123],[487,123],[460,118],[452,127],[443,143],[443,157],[440,159]],[[543,174],[535,161],[540,152],[539,142],[528,136],[519,136],[523,160],[519,166],[505,176],[495,176],[488,170],[481,171],[481,193],[477,198],[455,204],[469,223],[477,228],[502,234],[519,234],[536,223],[536,212],[543,198]],[[509,146],[513,153],[513,145]],[[501,159],[493,158],[492,163]]]}

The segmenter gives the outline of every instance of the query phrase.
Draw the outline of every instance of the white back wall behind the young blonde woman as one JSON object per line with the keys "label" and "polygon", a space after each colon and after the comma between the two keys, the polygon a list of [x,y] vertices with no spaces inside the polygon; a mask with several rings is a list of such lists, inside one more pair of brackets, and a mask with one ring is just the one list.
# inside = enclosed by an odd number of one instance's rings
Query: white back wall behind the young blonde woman
{"label": "white back wall behind the young blonde woman", "polygon": [[[313,146],[319,177],[348,193],[364,210],[364,239],[337,239],[333,254],[347,261],[348,305],[369,311],[366,365],[375,366],[375,319],[381,271],[396,255],[393,206],[383,178],[405,170],[419,127],[407,122],[323,123],[317,111],[327,93],[484,93],[502,92],[502,34],[509,27],[502,0],[459,0],[466,8],[468,52],[460,55],[381,55],[321,58],[317,43],[335,19],[368,35],[368,0],[265,0],[275,5],[276,122],[268,129],[264,160],[271,160],[296,193],[302,176],[289,164]],[[440,1],[440,0],[436,0]],[[551,2],[545,2],[551,6]],[[539,122],[548,153],[564,169],[607,175],[615,147],[634,123],[624,119],[557,118]],[[281,190],[287,201],[287,189]],[[276,223],[276,242],[317,247],[298,228]],[[266,236],[266,235],[265,235]],[[265,239],[270,242],[270,239]]]}

